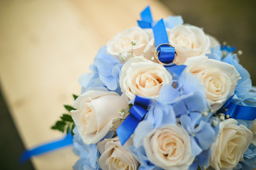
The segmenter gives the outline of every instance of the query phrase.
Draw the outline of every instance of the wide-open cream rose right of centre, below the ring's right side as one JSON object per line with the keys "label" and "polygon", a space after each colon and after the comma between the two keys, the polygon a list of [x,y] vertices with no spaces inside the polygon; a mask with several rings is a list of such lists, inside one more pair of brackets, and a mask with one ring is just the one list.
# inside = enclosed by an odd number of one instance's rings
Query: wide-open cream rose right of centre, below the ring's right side
{"label": "wide-open cream rose right of centre, below the ring's right side", "polygon": [[204,85],[206,98],[214,111],[234,94],[235,86],[241,79],[233,65],[206,56],[188,58],[184,64],[187,65],[184,72],[191,72]]}

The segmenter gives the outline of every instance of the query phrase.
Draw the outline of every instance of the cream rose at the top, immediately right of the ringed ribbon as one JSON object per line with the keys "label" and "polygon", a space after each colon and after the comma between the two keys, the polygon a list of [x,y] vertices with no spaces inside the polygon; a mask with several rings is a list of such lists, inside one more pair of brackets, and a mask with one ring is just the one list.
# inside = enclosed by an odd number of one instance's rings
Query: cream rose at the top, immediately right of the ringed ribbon
{"label": "cream rose at the top, immediately right of the ringed ribbon", "polygon": [[169,44],[175,47],[177,60],[175,64],[183,64],[188,57],[210,53],[210,39],[201,28],[196,26],[175,26],[167,30]]}

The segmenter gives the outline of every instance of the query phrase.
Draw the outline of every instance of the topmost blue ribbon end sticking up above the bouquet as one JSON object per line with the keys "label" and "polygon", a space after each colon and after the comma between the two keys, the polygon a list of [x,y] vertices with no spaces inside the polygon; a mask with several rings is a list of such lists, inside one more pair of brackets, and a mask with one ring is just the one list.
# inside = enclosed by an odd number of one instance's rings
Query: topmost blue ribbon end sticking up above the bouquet
{"label": "topmost blue ribbon end sticking up above the bouquet", "polygon": [[152,15],[150,11],[150,6],[147,6],[141,13],[140,13],[141,21],[137,20],[138,26],[140,28],[152,28]]}

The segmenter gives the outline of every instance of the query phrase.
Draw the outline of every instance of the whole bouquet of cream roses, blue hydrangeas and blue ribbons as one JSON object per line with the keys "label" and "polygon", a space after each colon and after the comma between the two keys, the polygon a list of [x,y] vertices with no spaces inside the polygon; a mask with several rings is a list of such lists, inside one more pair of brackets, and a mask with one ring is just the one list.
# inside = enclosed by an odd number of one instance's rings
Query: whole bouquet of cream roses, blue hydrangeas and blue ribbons
{"label": "whole bouquet of cream roses, blue hydrangeas and blue ribbons", "polygon": [[73,168],[255,169],[256,88],[238,55],[145,8],[101,47],[62,116],[74,120]]}

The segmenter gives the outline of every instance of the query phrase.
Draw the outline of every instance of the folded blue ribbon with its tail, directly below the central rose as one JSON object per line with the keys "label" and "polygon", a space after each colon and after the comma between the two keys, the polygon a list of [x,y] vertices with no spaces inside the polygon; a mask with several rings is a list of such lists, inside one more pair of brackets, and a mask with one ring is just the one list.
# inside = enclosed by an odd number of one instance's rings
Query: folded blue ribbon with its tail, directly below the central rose
{"label": "folded blue ribbon with its tail, directly below the central rose", "polygon": [[131,107],[129,111],[130,114],[116,130],[121,145],[126,143],[130,135],[133,134],[138,123],[140,123],[140,121],[143,120],[145,114],[148,113],[150,102],[151,100],[149,98],[135,96],[133,107]]}

